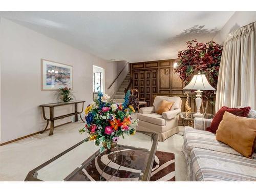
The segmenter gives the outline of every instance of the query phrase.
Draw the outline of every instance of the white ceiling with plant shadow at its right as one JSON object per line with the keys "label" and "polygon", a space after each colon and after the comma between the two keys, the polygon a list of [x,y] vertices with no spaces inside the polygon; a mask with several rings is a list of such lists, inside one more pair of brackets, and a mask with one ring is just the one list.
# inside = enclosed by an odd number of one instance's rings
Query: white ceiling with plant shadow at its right
{"label": "white ceiling with plant shadow at its right", "polygon": [[106,60],[177,58],[191,39],[208,41],[233,11],[20,11],[0,16]]}

